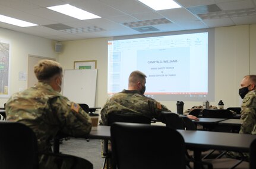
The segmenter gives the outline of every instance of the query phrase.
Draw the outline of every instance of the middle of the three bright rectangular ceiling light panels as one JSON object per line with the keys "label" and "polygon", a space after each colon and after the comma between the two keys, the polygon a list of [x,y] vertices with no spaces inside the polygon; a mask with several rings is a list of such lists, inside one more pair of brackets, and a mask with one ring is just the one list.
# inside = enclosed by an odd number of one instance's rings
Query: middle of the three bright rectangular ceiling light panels
{"label": "middle of the three bright rectangular ceiling light panels", "polygon": [[80,20],[100,18],[97,15],[91,14],[90,12],[84,11],[69,4],[50,6],[47,8]]}

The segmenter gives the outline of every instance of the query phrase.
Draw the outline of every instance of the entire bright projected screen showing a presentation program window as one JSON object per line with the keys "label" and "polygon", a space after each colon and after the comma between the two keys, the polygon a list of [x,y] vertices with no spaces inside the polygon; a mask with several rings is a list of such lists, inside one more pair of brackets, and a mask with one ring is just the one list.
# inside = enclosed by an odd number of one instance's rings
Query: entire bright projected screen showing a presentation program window
{"label": "entire bright projected screen showing a presentation program window", "polygon": [[108,95],[127,89],[134,70],[146,74],[154,99],[207,99],[208,32],[109,41]]}

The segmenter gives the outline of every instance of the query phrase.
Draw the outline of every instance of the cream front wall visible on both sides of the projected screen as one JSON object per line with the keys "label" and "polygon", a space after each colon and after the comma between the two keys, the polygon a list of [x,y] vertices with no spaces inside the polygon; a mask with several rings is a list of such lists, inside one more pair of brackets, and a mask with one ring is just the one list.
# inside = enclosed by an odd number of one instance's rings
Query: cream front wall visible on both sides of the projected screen
{"label": "cream front wall visible on both sides of the projected screen", "polygon": [[[97,60],[96,106],[99,107],[102,107],[108,98],[108,40],[109,38],[95,38],[66,41],[63,42],[63,53],[59,54],[59,61],[64,69],[72,69],[74,61]],[[222,99],[226,108],[240,106],[238,89],[241,79],[246,74],[256,73],[252,63],[252,60],[256,63],[255,44],[256,25],[215,28],[215,77],[210,77],[215,78],[215,102],[211,102],[210,105],[217,105]],[[161,103],[171,111],[176,111],[176,102]],[[185,102],[184,109],[201,104],[201,102]]]}

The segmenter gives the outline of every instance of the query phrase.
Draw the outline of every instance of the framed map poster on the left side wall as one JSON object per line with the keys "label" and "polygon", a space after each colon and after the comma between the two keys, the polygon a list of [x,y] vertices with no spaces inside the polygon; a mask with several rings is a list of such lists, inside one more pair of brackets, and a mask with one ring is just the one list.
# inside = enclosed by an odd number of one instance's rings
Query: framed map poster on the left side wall
{"label": "framed map poster on the left side wall", "polygon": [[10,43],[0,40],[0,98],[10,97]]}

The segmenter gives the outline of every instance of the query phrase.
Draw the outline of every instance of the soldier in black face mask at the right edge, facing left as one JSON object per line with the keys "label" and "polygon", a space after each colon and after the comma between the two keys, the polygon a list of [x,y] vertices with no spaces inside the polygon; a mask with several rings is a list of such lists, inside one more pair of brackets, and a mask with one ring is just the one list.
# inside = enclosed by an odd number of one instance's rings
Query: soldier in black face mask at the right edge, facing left
{"label": "soldier in black face mask at the right edge, facing left", "polygon": [[[247,75],[241,81],[239,89],[241,96],[241,120],[242,125],[239,134],[256,134],[256,75]],[[241,153],[228,152],[230,157],[241,158]],[[243,153],[246,161],[249,154]]]}

